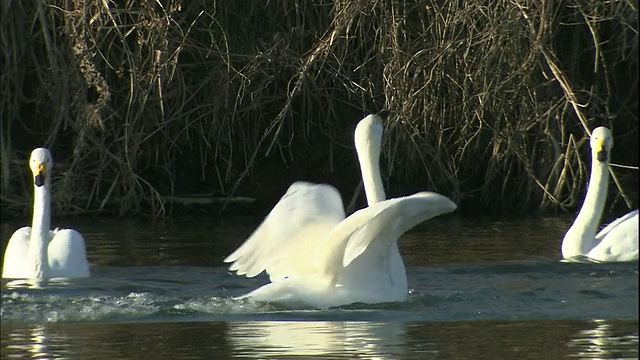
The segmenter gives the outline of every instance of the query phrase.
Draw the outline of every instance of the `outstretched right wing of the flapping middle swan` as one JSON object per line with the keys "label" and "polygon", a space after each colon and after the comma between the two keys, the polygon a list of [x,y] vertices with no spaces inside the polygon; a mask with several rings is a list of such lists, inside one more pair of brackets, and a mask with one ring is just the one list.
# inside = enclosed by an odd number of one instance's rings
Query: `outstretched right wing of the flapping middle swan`
{"label": "outstretched right wing of the flapping middle swan", "polygon": [[[362,209],[354,217],[355,231],[349,236],[342,266],[347,267],[363,252],[375,247],[381,257],[388,252],[391,241],[396,241],[407,230],[435,216],[450,213],[457,208],[448,197],[419,192],[410,196],[383,201]],[[353,216],[352,215],[352,216]],[[368,218],[368,219],[367,219]]]}

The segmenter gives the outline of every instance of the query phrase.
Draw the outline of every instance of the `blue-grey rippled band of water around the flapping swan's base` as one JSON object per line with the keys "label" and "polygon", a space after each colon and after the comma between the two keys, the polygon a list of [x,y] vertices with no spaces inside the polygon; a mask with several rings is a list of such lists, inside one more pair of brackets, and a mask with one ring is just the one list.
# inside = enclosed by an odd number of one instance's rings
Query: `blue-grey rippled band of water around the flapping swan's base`
{"label": "blue-grey rippled band of water around the flapping swan's base", "polygon": [[224,268],[103,267],[91,279],[3,283],[1,316],[8,323],[637,319],[637,264],[584,266],[540,260],[409,268],[407,302],[303,312],[234,299],[263,284],[261,276],[231,276]]}

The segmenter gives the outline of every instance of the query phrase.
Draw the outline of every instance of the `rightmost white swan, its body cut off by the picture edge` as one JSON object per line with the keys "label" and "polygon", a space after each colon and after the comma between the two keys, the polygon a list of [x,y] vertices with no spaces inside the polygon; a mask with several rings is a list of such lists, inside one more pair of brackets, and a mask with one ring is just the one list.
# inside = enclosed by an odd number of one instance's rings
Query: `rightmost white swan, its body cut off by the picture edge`
{"label": "rightmost white swan, its body cut off by the picture edge", "polygon": [[618,218],[596,234],[607,199],[609,157],[613,138],[606,127],[593,130],[591,145],[591,176],[587,195],[573,225],[562,240],[565,259],[587,256],[601,262],[638,259],[638,210]]}

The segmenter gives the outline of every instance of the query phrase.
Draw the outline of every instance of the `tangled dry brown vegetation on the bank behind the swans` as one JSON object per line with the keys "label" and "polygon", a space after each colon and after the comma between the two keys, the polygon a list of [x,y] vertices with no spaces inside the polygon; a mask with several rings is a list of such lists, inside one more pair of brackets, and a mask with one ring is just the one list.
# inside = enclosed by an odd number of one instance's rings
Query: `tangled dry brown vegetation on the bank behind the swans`
{"label": "tangled dry brown vegetation on the bank behind the swans", "polygon": [[[590,129],[638,163],[637,19],[631,1],[3,2],[2,211],[28,209],[38,145],[61,211],[259,197],[289,181],[260,168],[305,157],[352,191],[336,164],[382,108],[390,195],[573,208]],[[635,199],[637,170],[615,172]]]}

